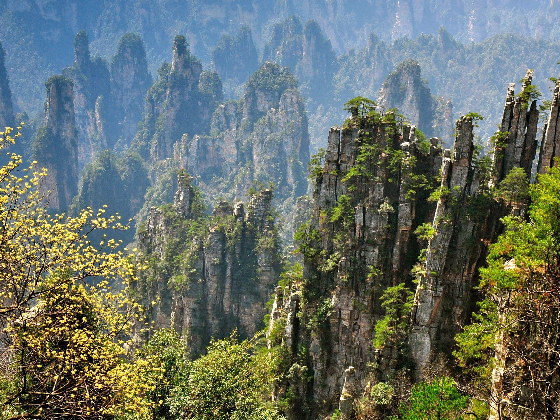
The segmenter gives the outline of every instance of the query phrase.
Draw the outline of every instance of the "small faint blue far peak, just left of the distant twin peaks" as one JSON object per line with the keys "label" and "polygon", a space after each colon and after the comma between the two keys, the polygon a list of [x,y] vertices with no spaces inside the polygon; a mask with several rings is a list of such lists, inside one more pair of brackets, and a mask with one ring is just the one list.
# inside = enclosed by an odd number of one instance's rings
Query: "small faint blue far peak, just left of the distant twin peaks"
{"label": "small faint blue far peak, just left of the distant twin peaks", "polygon": [[245,82],[257,68],[258,54],[249,26],[242,26],[235,38],[223,35],[212,51],[212,69],[223,81]]}

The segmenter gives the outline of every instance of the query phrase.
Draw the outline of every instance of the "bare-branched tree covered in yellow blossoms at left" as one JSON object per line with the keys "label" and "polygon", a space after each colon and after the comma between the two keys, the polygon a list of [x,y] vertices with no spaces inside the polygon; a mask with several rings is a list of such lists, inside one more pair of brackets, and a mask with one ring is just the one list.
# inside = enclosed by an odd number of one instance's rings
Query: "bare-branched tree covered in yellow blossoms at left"
{"label": "bare-branched tree covered in yellow blossoms at left", "polygon": [[[0,153],[20,130],[0,133]],[[41,192],[46,170],[7,157],[0,167],[0,418],[146,412],[142,367],[123,357],[124,337],[141,319],[128,295],[138,267],[119,241],[88,241],[94,231],[127,226],[104,209],[51,216]]]}

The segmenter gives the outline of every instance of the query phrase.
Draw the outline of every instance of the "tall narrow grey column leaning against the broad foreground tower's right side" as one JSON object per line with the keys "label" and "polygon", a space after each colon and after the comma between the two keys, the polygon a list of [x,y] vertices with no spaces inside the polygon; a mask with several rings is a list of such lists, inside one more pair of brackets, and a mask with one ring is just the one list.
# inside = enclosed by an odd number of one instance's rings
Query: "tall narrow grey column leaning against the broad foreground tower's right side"
{"label": "tall narrow grey column leaning against the broad foreground tower's right side", "polygon": [[418,282],[412,311],[410,355],[420,366],[430,360],[437,343],[451,342],[450,330],[455,330],[455,324],[468,315],[465,310],[473,286],[473,263],[478,258],[470,258],[466,245],[474,235],[474,223],[458,217],[457,212],[471,194],[473,137],[472,119],[461,117],[457,122],[453,160],[449,150],[444,153],[442,193],[433,222],[436,232],[428,244],[426,273]]}

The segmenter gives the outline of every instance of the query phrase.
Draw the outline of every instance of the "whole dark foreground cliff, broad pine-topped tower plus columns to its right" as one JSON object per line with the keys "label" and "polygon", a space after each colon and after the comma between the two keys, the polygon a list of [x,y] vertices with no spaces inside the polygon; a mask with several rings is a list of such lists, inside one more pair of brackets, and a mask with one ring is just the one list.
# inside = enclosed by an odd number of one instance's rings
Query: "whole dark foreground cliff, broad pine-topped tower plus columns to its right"
{"label": "whole dark foreground cliff, broad pine-topped tower plus columns to its right", "polygon": [[[279,382],[275,398],[293,418],[332,412],[341,394],[351,418],[368,381],[401,370],[417,378],[438,353],[450,355],[500,218],[526,206],[503,197],[508,173],[528,176],[535,154],[531,77],[517,96],[508,90],[495,171],[473,143],[477,114],[456,122],[453,153],[367,101],[352,102],[344,127],[330,129],[324,161],[314,162],[312,217],[296,235],[301,281],[277,290],[269,329],[270,346],[291,349],[290,372],[309,372]],[[352,385],[343,391],[344,381]]]}

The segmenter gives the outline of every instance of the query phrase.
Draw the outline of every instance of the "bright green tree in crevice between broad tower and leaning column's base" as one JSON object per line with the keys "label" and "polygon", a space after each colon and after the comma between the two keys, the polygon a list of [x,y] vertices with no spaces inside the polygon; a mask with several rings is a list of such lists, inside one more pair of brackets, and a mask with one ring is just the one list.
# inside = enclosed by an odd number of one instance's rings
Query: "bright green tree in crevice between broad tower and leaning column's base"
{"label": "bright green tree in crevice between broad tower and leaning column's base", "polygon": [[374,346],[386,344],[404,350],[414,293],[404,283],[388,287],[381,295],[385,316],[375,324]]}

